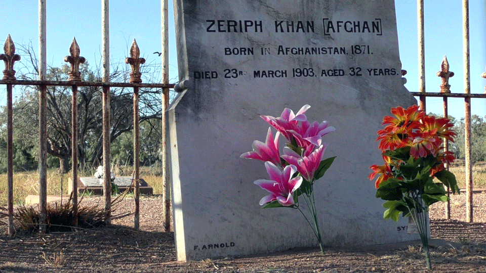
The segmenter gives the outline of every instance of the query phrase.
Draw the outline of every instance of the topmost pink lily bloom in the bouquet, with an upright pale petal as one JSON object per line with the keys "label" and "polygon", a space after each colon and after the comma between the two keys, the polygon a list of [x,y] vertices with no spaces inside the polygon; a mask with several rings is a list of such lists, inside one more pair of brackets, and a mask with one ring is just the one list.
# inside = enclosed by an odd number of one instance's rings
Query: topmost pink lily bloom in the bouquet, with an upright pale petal
{"label": "topmost pink lily bloom in the bouquet, with an upright pale petal", "polygon": [[310,106],[306,104],[302,106],[297,114],[294,114],[294,111],[291,109],[285,108],[280,117],[261,116],[261,118],[283,134],[287,140],[292,141],[293,135],[289,130],[295,130],[299,121],[307,121],[307,117],[304,113],[309,108]]}

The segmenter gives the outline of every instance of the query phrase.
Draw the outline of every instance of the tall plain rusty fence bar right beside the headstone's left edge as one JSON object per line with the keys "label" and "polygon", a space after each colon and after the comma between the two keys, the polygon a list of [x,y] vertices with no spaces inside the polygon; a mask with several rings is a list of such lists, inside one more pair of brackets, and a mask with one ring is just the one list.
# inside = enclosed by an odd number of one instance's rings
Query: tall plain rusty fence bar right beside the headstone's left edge
{"label": "tall plain rusty fence bar right beside the headstone's left edge", "polygon": [[[162,83],[169,83],[169,9],[168,1],[161,0],[161,11],[162,11]],[[162,185],[164,196],[164,229],[166,232],[171,231],[171,183],[169,177],[169,163],[167,160],[167,108],[169,108],[169,88],[165,87],[162,90]]]}

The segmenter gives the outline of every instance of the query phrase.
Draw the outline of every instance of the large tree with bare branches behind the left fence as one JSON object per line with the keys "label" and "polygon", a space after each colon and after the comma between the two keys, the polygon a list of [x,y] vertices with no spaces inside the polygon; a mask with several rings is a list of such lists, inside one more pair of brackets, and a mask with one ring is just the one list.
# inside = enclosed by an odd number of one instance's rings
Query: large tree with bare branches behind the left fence
{"label": "large tree with bare branches behind the left fence", "polygon": [[[17,79],[35,80],[38,75],[37,58],[32,45],[19,45],[23,62],[18,69]],[[141,67],[144,82],[154,82],[159,65],[151,63]],[[110,80],[113,82],[128,82],[129,67],[121,62],[112,64]],[[92,68],[88,62],[80,65],[81,77],[84,81],[101,82],[101,69]],[[68,79],[69,66],[49,67],[47,80],[65,81]],[[38,87],[20,86],[20,96],[14,102],[14,138],[27,140],[24,147],[38,147]],[[133,129],[133,89],[110,88],[111,118],[110,141],[113,142],[124,132]],[[140,122],[160,119],[162,105],[160,89],[140,88]],[[78,162],[80,168],[85,164],[101,162],[102,156],[102,92],[101,87],[78,87]],[[70,86],[48,86],[47,89],[47,125],[48,154],[59,159],[59,171],[70,169],[71,157],[71,99]],[[0,113],[0,125],[6,123],[6,111]],[[0,127],[5,130],[6,126]],[[1,144],[0,144],[1,145]]]}

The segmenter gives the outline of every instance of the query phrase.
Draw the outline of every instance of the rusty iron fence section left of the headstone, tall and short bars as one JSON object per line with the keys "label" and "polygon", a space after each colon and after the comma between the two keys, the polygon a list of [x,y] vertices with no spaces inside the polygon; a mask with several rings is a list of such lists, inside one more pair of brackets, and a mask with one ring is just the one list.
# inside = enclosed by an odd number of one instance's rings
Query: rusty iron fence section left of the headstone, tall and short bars
{"label": "rusty iron fence section left of the headstone, tall and short bars", "polygon": [[[133,127],[134,127],[134,179],[133,185],[135,187],[135,212],[134,212],[134,227],[139,229],[139,179],[140,179],[140,147],[139,147],[139,96],[138,90],[140,87],[147,88],[162,88],[163,100],[161,103],[161,121],[162,121],[162,167],[163,167],[163,196],[165,198],[165,205],[163,208],[164,213],[164,226],[166,231],[171,229],[170,221],[170,182],[167,160],[167,118],[166,110],[169,106],[169,92],[170,88],[174,88],[177,84],[169,83],[169,15],[168,15],[168,0],[161,0],[161,37],[162,37],[162,83],[142,83],[140,65],[145,60],[140,58],[140,50],[136,41],[134,40],[130,49],[130,57],[126,58],[125,62],[131,65],[132,73],[130,73],[130,80],[128,83],[110,82],[109,79],[109,0],[102,0],[102,66],[103,75],[102,82],[88,82],[82,81],[79,77],[79,65],[86,60],[81,57],[79,46],[73,39],[71,47],[69,49],[70,55],[64,60],[70,63],[70,71],[68,73],[69,79],[67,81],[48,81],[46,80],[46,1],[38,0],[38,22],[39,22],[39,66],[38,66],[38,79],[39,80],[17,80],[15,77],[14,63],[20,60],[20,56],[15,54],[15,45],[10,37],[10,34],[4,45],[5,54],[0,54],[0,60],[5,62],[4,77],[0,80],[0,85],[5,84],[7,86],[7,184],[8,184],[8,233],[14,233],[13,227],[13,145],[12,145],[12,86],[13,85],[34,85],[39,89],[39,206],[41,208],[39,229],[41,232],[46,232],[47,228],[47,86],[71,86],[72,87],[72,102],[71,102],[71,133],[72,133],[72,177],[71,177],[71,189],[72,191],[72,205],[74,208],[74,219],[77,219],[77,87],[78,86],[98,86],[102,87],[102,134],[103,134],[103,195],[104,195],[104,210],[107,212],[105,221],[107,224],[111,223],[111,180],[110,180],[110,87],[129,87],[133,88]],[[76,223],[74,223],[76,225]]]}

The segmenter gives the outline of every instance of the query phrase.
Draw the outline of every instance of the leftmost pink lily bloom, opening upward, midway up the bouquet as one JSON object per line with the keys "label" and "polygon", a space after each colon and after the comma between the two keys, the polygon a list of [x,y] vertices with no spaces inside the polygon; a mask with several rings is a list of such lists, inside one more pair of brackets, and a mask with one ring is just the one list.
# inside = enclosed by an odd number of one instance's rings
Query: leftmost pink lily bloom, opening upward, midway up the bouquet
{"label": "leftmost pink lily bloom, opening upward, midway up the bouquet", "polygon": [[253,151],[241,154],[240,158],[253,158],[262,161],[270,161],[273,164],[280,166],[280,152],[278,151],[278,138],[280,132],[275,134],[273,139],[272,130],[268,127],[267,138],[265,143],[254,141],[252,144]]}

